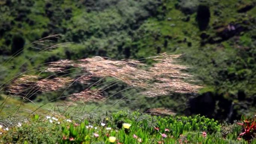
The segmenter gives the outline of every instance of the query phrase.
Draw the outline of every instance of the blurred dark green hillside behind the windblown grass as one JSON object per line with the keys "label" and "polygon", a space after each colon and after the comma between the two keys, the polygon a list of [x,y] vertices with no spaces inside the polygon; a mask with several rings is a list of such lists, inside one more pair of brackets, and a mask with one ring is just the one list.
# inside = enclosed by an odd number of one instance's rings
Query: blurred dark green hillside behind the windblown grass
{"label": "blurred dark green hillside behind the windblown grass", "polygon": [[[145,98],[129,90],[115,95],[102,109],[164,107],[231,122],[256,112],[255,4],[255,0],[0,0],[0,84],[60,59],[184,54],[179,63],[191,67],[188,73],[204,86],[199,94]],[[57,43],[73,43],[48,53],[30,47],[50,34],[64,35],[53,39]],[[19,50],[23,51],[8,61]],[[74,85],[66,93],[82,87]],[[107,94],[125,87],[120,83]],[[34,101],[46,102],[57,95],[40,94]],[[127,98],[119,102],[123,96]],[[98,104],[92,102],[88,110],[94,105]]]}

